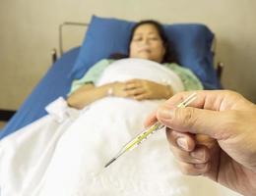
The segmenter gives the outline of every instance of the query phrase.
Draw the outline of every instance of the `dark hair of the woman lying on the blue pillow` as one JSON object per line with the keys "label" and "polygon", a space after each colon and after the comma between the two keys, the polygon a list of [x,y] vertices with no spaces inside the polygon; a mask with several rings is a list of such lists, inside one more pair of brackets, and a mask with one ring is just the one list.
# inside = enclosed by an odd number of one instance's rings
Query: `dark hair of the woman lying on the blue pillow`
{"label": "dark hair of the woman lying on the blue pillow", "polygon": [[[134,32],[140,25],[154,25],[156,27],[156,29],[158,30],[158,32],[160,34],[160,39],[161,39],[163,47],[165,49],[165,54],[162,58],[161,63],[178,63],[173,44],[168,40],[162,25],[160,25],[160,23],[157,21],[154,21],[154,20],[141,21],[141,22],[137,23],[136,25],[134,25],[131,30],[129,43],[131,43],[131,41],[133,39]],[[130,47],[129,47],[128,54],[129,53],[130,53]],[[110,59],[118,60],[118,59],[128,58],[129,57],[128,54],[114,53],[114,54],[110,55]]]}

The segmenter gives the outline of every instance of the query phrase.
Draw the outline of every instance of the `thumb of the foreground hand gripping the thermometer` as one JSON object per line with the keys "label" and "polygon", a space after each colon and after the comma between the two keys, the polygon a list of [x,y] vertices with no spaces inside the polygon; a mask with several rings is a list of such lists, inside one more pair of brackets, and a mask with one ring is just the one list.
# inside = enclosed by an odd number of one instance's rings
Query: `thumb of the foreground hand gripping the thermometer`
{"label": "thumb of the foreground hand gripping the thermometer", "polygon": [[224,112],[161,106],[157,111],[157,119],[167,127],[180,132],[206,134],[215,139],[221,139],[224,135]]}

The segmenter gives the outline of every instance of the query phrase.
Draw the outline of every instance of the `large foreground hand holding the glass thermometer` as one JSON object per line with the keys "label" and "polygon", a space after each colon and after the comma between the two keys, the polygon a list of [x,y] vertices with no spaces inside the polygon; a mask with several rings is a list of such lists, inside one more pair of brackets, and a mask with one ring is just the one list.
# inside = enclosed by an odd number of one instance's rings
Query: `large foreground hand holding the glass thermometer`
{"label": "large foreground hand holding the glass thermometer", "polygon": [[232,91],[197,91],[190,107],[176,108],[178,93],[151,115],[167,126],[181,171],[205,175],[243,195],[256,195],[256,106]]}

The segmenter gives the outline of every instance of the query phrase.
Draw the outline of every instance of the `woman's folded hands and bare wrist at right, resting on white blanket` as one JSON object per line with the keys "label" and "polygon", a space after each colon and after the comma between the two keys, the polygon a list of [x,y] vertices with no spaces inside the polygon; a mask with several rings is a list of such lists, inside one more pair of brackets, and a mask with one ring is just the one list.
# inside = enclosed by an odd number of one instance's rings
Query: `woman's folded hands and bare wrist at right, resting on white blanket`
{"label": "woman's folded hands and bare wrist at right, resting on white blanket", "polygon": [[131,79],[125,82],[126,97],[136,100],[145,99],[168,99],[173,95],[170,86],[146,80]]}

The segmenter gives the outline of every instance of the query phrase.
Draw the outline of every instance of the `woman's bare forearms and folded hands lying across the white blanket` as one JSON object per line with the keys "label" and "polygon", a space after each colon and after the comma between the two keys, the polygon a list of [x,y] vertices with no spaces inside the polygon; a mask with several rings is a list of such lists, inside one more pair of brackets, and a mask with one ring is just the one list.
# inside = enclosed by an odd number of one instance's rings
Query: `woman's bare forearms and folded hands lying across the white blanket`
{"label": "woman's bare forearms and folded hands lying across the white blanket", "polygon": [[173,91],[169,85],[162,85],[145,79],[113,82],[98,87],[90,83],[73,92],[68,97],[67,102],[71,107],[83,109],[94,101],[109,95],[136,100],[168,99],[173,95]]}

